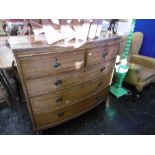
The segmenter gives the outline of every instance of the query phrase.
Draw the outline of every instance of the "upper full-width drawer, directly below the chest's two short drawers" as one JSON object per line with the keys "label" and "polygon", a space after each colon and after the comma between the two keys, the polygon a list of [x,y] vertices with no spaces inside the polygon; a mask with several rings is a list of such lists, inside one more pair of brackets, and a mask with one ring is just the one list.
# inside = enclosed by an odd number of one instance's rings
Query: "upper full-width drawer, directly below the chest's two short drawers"
{"label": "upper full-width drawer, directly below the chest's two short drawers", "polygon": [[96,79],[112,70],[115,65],[115,58],[108,62],[87,67],[78,71],[70,71],[56,74],[55,76],[47,76],[42,78],[26,80],[26,88],[29,97],[48,94],[54,91],[71,88],[73,86]]}

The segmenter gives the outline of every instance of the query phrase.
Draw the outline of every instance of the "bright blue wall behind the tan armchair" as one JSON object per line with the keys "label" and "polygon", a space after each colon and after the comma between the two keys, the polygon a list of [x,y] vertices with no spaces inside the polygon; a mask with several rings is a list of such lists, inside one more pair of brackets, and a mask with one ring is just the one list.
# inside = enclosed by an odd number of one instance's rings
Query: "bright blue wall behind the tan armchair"
{"label": "bright blue wall behind the tan armchair", "polygon": [[143,32],[140,54],[155,58],[155,19],[137,19],[135,32]]}

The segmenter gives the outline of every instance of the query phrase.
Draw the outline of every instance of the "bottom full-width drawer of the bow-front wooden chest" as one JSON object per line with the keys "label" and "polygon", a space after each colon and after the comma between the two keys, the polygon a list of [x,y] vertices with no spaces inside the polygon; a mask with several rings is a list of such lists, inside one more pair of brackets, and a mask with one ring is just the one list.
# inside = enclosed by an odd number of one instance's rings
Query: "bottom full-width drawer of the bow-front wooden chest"
{"label": "bottom full-width drawer of the bow-front wooden chest", "polygon": [[108,96],[108,91],[108,88],[104,90],[102,89],[102,91],[100,91],[98,94],[82,100],[78,103],[69,105],[61,109],[57,109],[55,111],[35,114],[34,118],[37,129],[58,125],[88,111],[89,109],[104,101]]}

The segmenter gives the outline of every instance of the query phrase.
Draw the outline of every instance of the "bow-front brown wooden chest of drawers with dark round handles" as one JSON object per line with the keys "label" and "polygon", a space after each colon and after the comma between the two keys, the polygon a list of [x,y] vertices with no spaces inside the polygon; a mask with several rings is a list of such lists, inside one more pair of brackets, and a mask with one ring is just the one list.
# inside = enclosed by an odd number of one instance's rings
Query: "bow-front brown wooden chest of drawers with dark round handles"
{"label": "bow-front brown wooden chest of drawers with dark round handles", "polygon": [[27,107],[36,131],[61,124],[106,100],[120,37],[74,46],[12,37]]}

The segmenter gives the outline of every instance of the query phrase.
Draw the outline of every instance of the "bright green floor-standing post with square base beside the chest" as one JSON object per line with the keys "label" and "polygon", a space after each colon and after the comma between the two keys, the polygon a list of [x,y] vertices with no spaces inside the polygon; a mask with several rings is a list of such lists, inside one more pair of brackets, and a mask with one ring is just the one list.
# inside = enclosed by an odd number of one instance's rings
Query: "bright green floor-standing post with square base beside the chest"
{"label": "bright green floor-standing post with square base beside the chest", "polygon": [[110,87],[110,92],[113,95],[115,95],[117,98],[128,94],[128,91],[122,87],[122,83],[123,83],[124,78],[128,72],[128,69],[129,69],[129,67],[127,65],[127,58],[129,55],[129,50],[130,50],[130,46],[131,46],[135,23],[136,23],[136,20],[133,19],[132,24],[131,24],[131,30],[128,35],[128,40],[126,42],[125,49],[124,49],[124,52],[123,52],[123,55],[121,58],[121,64],[119,65],[118,68],[116,68],[117,82]]}

